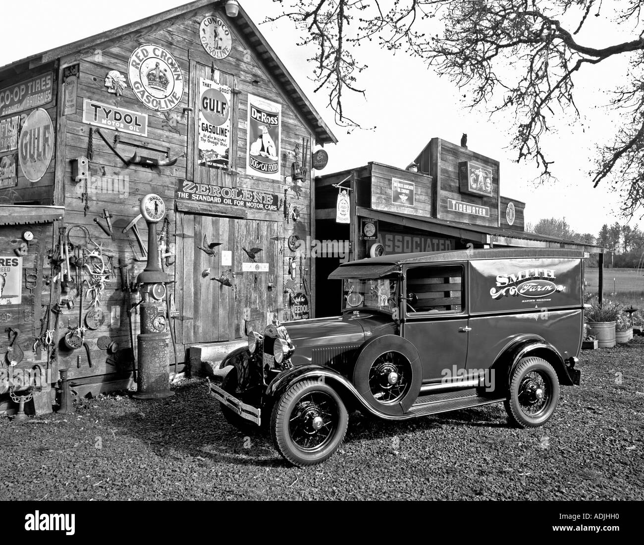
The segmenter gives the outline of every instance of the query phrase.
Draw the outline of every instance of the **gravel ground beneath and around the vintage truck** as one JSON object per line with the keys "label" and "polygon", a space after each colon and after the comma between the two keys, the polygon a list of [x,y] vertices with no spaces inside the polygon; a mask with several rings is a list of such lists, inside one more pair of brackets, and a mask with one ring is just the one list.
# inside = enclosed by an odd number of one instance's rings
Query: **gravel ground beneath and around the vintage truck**
{"label": "gravel ground beneath and around the vintage truck", "polygon": [[644,499],[644,337],[584,351],[544,428],[502,404],[403,423],[355,413],[321,466],[287,466],[229,426],[204,381],[165,401],[84,399],[69,415],[0,419],[0,499]]}

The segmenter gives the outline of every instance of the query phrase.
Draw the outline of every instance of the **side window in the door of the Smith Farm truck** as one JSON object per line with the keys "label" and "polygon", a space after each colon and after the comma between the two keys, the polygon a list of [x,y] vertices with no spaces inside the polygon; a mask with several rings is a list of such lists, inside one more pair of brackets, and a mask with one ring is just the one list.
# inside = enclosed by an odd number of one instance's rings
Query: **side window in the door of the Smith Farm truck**
{"label": "side window in the door of the Smith Farm truck", "polygon": [[463,267],[428,266],[407,271],[407,296],[413,293],[412,312],[460,312],[463,309]]}

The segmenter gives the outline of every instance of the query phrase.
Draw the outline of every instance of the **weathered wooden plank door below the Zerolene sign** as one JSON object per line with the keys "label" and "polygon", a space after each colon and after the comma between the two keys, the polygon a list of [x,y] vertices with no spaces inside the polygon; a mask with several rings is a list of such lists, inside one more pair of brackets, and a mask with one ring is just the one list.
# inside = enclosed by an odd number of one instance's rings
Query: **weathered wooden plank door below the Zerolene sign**
{"label": "weathered wooden plank door below the Zerolene sign", "polygon": [[[234,341],[245,338],[250,328],[260,330],[265,326],[267,312],[272,317],[282,300],[281,227],[281,222],[274,221],[177,213],[178,342]],[[206,243],[221,243],[214,248],[216,255],[202,250],[207,248],[204,236]],[[261,252],[253,262],[242,248],[249,251],[261,248]],[[224,252],[232,252],[230,265],[223,262]],[[252,263],[252,268],[260,270],[244,271],[251,268],[244,263]],[[227,271],[230,272],[225,275]],[[222,279],[224,283],[213,279]],[[232,286],[225,285],[226,279]],[[249,312],[251,319],[247,321]]]}

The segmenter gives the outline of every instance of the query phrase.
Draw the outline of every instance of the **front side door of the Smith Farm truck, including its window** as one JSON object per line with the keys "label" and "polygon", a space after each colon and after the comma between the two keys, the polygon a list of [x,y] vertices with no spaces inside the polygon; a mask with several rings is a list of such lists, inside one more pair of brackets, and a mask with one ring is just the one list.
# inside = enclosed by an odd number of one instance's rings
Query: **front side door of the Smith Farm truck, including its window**
{"label": "front side door of the Smith Farm truck, including its window", "polygon": [[468,355],[462,264],[412,266],[405,271],[404,337],[418,350],[423,381],[459,375]]}

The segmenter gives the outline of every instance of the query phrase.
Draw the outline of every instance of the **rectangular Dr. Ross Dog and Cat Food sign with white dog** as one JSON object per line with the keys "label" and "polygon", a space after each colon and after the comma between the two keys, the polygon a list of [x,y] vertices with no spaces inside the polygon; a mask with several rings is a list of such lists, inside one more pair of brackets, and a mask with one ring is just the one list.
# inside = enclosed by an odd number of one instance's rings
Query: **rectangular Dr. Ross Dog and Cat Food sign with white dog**
{"label": "rectangular Dr. Ross Dog and Cat Food sign with white dog", "polygon": [[246,173],[279,180],[281,104],[248,95]]}

